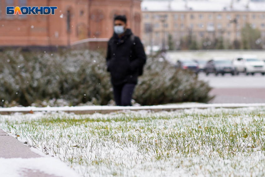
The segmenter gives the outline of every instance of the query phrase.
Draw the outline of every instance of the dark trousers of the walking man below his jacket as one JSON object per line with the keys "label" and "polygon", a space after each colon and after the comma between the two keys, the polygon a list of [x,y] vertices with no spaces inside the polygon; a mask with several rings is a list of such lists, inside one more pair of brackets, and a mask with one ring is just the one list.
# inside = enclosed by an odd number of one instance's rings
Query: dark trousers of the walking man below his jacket
{"label": "dark trousers of the walking man below his jacket", "polygon": [[113,86],[114,99],[117,106],[132,106],[132,94],[135,84]]}

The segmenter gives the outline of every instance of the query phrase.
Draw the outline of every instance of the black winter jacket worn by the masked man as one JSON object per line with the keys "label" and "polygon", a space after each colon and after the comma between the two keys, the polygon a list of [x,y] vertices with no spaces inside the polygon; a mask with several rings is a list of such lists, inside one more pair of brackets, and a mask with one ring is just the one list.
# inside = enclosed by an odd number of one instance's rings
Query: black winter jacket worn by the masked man
{"label": "black winter jacket worn by the masked man", "polygon": [[107,66],[113,85],[137,84],[137,77],[146,62],[146,55],[139,37],[131,37],[127,29],[121,39],[117,34],[108,41]]}

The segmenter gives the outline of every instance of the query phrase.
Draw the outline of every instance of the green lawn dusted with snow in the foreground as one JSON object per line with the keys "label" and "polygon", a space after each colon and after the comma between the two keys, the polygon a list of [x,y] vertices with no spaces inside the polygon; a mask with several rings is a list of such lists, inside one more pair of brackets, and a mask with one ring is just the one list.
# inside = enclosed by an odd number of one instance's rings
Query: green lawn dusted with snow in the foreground
{"label": "green lawn dusted with snow in the foreground", "polygon": [[265,108],[0,116],[82,176],[264,176]]}

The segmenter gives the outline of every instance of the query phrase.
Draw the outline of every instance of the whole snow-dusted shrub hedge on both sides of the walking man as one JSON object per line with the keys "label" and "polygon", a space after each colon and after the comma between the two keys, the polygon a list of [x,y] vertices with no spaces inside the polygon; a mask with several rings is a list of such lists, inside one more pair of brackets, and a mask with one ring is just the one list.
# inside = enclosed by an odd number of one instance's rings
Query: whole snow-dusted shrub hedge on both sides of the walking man
{"label": "whole snow-dusted shrub hedge on both sides of the walking man", "polygon": [[[88,50],[1,52],[0,106],[13,101],[23,106],[43,106],[38,103],[54,98],[64,100],[68,106],[87,102],[107,105],[113,91],[104,55]],[[133,97],[141,105],[205,102],[209,91],[209,86],[191,73],[177,71],[166,61],[149,59]],[[52,103],[63,104],[60,100]]]}

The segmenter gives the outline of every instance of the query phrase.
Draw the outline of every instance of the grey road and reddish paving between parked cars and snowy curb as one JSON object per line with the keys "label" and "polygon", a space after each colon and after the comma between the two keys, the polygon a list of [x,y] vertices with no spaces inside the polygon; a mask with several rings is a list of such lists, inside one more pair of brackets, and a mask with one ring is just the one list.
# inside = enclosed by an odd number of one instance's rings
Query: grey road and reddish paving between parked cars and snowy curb
{"label": "grey road and reddish paving between parked cars and snowy curb", "polygon": [[210,95],[214,99],[209,103],[265,103],[265,76],[259,73],[254,76],[200,73],[199,79],[213,87]]}

